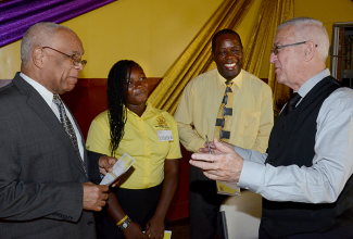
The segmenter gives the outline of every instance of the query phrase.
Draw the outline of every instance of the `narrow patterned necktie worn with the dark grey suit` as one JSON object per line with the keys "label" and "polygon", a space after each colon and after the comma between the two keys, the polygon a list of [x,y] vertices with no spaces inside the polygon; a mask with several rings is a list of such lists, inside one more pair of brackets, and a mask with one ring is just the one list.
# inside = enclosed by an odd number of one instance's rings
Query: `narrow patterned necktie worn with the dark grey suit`
{"label": "narrow patterned necktie worn with the dark grey suit", "polygon": [[83,161],[83,158],[80,156],[79,153],[79,149],[78,149],[78,144],[77,144],[77,138],[76,138],[76,134],[75,134],[75,129],[73,124],[71,123],[71,121],[68,120],[67,115],[66,115],[66,111],[65,111],[65,106],[63,101],[61,100],[61,98],[59,97],[59,95],[54,95],[53,97],[53,103],[56,104],[58,109],[59,109],[59,113],[60,113],[60,122],[62,124],[62,126],[64,127],[66,134],[68,135],[68,138],[71,139],[74,149],[76,150],[76,153],[78,155],[78,159],[83,165],[83,168],[87,175],[87,171]]}

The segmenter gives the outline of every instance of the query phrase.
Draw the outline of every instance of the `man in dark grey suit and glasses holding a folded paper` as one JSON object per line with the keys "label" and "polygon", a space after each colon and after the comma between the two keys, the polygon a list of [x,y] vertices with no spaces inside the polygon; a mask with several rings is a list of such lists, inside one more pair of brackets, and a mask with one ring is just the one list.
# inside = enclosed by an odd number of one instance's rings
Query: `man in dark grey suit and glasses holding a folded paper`
{"label": "man in dark grey suit and glasses holding a folded paper", "polygon": [[23,37],[21,73],[0,90],[1,239],[96,238],[92,211],[105,204],[109,188],[88,175],[99,180],[116,160],[88,160],[59,97],[75,87],[83,54],[77,35],[58,24],[38,23]]}

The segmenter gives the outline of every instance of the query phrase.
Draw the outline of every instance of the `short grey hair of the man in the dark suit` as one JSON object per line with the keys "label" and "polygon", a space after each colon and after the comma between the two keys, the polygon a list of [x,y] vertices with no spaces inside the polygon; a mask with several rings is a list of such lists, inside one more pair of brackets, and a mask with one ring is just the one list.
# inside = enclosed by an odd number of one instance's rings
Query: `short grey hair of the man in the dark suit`
{"label": "short grey hair of the man in the dark suit", "polygon": [[50,39],[53,39],[60,29],[72,30],[66,26],[49,22],[36,23],[30,26],[21,42],[22,65],[29,63],[35,48],[46,47],[43,45],[48,43]]}

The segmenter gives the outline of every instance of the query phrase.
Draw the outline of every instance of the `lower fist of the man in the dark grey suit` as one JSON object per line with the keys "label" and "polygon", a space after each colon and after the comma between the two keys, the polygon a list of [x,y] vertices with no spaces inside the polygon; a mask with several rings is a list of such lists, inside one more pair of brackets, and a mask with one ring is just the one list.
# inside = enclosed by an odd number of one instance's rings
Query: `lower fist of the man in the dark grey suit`
{"label": "lower fist of the man in the dark grey suit", "polygon": [[108,199],[109,187],[106,185],[94,185],[90,181],[84,183],[84,210],[101,211]]}

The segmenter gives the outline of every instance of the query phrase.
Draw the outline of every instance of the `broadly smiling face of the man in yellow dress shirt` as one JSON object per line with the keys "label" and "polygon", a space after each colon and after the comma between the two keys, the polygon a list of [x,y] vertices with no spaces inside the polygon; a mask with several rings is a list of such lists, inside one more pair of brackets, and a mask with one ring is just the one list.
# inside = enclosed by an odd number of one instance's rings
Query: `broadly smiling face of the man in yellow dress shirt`
{"label": "broadly smiling face of the man in yellow dress shirt", "polygon": [[227,80],[239,75],[243,64],[243,51],[237,35],[224,34],[216,38],[212,58],[219,74]]}

